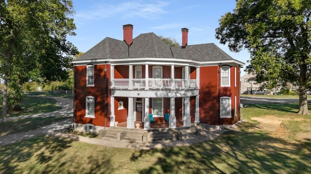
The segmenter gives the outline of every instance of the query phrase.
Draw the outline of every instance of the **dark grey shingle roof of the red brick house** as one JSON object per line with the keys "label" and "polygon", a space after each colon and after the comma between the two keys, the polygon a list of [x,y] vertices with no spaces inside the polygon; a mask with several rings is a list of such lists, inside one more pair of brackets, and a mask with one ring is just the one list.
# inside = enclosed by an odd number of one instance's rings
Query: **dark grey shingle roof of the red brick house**
{"label": "dark grey shingle roof of the red brick house", "polygon": [[128,48],[124,41],[106,37],[76,60],[116,58],[182,58],[196,61],[234,60],[214,43],[170,47],[155,33],[144,33],[133,39]]}

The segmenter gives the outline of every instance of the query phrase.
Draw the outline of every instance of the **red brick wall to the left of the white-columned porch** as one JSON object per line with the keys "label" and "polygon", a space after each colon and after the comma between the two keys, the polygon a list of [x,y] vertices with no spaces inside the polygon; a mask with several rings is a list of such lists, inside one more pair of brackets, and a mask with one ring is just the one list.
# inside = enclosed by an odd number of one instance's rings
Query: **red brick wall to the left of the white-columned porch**
{"label": "red brick wall to the left of the white-columned porch", "polygon": [[[75,96],[74,96],[74,122],[80,124],[90,123],[97,126],[110,125],[110,94],[105,85],[110,87],[110,66],[106,65],[107,73],[104,73],[105,65],[94,65],[94,87],[86,87],[86,65],[75,66]],[[107,84],[105,84],[105,82]],[[101,89],[101,90],[98,90]],[[107,94],[106,94],[107,91]],[[95,118],[85,117],[86,96],[95,97]]]}

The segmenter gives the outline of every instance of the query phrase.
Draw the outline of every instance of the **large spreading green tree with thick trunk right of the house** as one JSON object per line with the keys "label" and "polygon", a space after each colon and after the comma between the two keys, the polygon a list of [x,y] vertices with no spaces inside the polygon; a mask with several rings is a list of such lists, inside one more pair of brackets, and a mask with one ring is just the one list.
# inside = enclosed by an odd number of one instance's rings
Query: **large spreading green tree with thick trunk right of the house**
{"label": "large spreading green tree with thick trunk right of the house", "polygon": [[216,38],[231,51],[248,49],[249,72],[268,87],[299,85],[298,114],[309,114],[311,78],[311,0],[237,0],[219,20]]}

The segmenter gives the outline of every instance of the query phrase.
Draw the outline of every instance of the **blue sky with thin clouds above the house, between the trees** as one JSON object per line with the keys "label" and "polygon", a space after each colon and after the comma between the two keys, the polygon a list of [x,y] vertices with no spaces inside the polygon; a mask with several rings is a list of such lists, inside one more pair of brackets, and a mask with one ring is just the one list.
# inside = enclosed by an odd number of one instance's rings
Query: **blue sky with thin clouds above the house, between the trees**
{"label": "blue sky with thin clouds above the house, between the trees", "polygon": [[246,50],[230,52],[215,39],[218,19],[232,12],[235,5],[235,0],[73,0],[77,35],[68,40],[86,52],[105,37],[123,40],[122,25],[132,24],[133,38],[154,32],[181,43],[181,28],[187,28],[189,45],[215,43],[232,58],[246,63],[250,59]]}

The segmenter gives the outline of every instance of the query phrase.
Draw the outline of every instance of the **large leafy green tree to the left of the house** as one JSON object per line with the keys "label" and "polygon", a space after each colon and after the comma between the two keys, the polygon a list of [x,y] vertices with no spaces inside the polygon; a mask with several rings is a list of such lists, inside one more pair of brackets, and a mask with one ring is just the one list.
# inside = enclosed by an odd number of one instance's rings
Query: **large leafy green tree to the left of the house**
{"label": "large leafy green tree to the left of the house", "polygon": [[29,80],[68,78],[68,62],[77,53],[66,39],[75,34],[72,13],[71,0],[0,0],[2,122],[10,83],[14,89]]}

